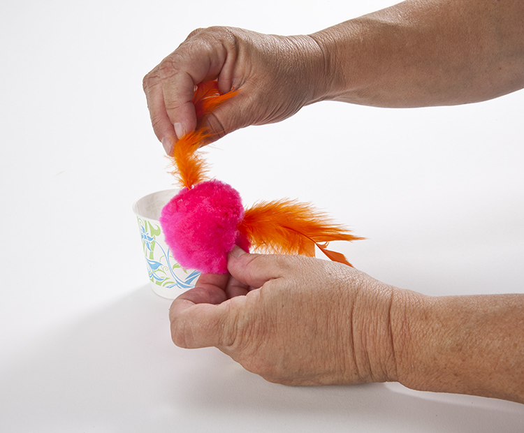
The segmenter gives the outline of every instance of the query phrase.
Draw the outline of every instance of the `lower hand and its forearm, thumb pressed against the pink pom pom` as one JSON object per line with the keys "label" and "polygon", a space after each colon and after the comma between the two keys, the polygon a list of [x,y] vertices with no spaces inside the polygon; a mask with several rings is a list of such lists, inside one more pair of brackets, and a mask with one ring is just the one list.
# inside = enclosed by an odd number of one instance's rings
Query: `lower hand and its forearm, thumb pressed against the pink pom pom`
{"label": "lower hand and its forearm, thumb pressed against the pink pom pom", "polygon": [[177,346],[216,346],[287,385],[399,381],[524,403],[524,294],[435,298],[340,263],[242,252],[173,302]]}

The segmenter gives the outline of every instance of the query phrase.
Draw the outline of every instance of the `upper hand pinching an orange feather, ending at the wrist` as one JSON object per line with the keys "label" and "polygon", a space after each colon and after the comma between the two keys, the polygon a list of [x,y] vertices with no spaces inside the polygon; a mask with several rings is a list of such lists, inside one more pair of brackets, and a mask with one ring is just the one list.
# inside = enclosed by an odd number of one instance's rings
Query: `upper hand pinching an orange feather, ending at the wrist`
{"label": "upper hand pinching an orange feather, ending at the wrist", "polygon": [[279,122],[323,98],[325,68],[321,48],[310,36],[226,27],[195,30],[143,80],[154,133],[169,154],[172,144],[196,127],[195,85],[215,79],[221,92],[241,92],[208,120],[214,139],[245,126]]}

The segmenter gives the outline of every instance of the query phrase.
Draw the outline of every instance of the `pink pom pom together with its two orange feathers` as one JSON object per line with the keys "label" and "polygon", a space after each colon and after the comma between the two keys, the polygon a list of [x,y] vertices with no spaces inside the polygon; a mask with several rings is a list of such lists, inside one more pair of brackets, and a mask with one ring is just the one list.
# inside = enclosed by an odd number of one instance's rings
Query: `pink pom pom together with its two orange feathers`
{"label": "pink pom pom together with its two orange feathers", "polygon": [[[206,179],[206,166],[198,147],[212,134],[205,119],[235,96],[220,94],[217,82],[198,85],[194,107],[200,125],[174,147],[173,172],[182,189],[163,208],[160,223],[173,257],[185,268],[224,274],[227,255],[238,245],[277,254],[314,256],[315,246],[328,258],[350,265],[326,247],[335,240],[361,239],[351,235],[311,205],[296,200],[259,203],[245,210],[238,191],[216,179]],[[351,265],[350,265],[351,266]]]}

